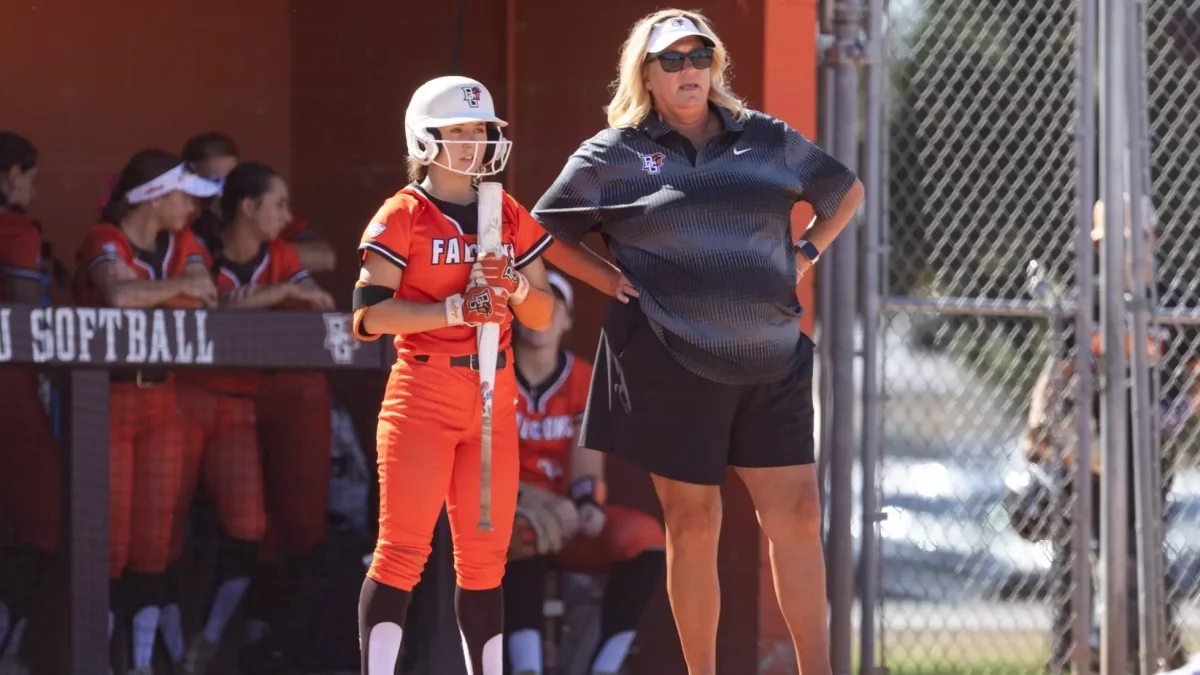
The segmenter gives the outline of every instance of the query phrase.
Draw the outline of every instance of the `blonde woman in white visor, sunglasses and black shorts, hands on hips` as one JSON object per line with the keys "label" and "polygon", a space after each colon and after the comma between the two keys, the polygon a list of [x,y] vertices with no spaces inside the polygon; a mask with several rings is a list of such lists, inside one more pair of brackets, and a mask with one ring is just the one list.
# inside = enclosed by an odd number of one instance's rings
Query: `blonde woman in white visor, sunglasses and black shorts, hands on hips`
{"label": "blonde woman in white visor, sunglasses and black shorts, hands on hips", "polygon": [[[716,668],[720,484],[734,467],[770,540],[799,670],[828,674],[814,345],[796,283],[853,217],[863,186],[794,129],[748,109],[727,64],[697,12],[638,20],[608,129],[571,155],[533,214],[556,249],[601,234],[640,292],[610,305],[580,443],[652,474],[688,671]],[[799,201],[816,219],[797,240]]]}

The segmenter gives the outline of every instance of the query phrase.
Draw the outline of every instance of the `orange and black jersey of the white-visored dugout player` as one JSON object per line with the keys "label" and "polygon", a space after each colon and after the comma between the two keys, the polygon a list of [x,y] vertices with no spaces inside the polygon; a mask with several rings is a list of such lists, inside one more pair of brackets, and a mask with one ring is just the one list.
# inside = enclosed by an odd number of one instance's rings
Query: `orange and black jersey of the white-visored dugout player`
{"label": "orange and black jersey of the white-visored dugout player", "polygon": [[191,263],[204,264],[206,255],[188,229],[160,232],[151,251],[136,247],[120,227],[98,223],[88,228],[76,257],[76,300],[103,306],[106,300],[91,283],[91,271],[108,261],[124,261],[144,281],[176,279]]}

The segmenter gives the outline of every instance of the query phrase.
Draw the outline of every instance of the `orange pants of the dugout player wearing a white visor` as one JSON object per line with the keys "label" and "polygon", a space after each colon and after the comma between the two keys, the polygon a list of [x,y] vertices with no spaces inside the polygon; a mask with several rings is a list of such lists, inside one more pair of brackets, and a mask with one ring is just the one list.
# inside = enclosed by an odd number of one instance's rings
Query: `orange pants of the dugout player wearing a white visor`
{"label": "orange pants of the dugout player wearing a white visor", "polygon": [[108,396],[108,575],[163,572],[184,476],[175,384],[113,383]]}

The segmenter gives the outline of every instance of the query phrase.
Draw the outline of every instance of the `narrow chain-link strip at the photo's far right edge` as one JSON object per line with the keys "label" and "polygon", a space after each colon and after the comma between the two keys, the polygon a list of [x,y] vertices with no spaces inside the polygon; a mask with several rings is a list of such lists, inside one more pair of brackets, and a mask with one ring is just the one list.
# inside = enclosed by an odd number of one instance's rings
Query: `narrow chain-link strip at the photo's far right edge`
{"label": "narrow chain-link strip at the photo's far right edge", "polygon": [[[1200,213],[1200,2],[1153,0],[1145,5],[1150,190],[1158,235],[1152,289],[1162,313],[1200,306],[1195,214]],[[1200,325],[1159,321],[1164,341],[1158,372],[1164,416],[1163,490],[1166,494],[1166,616],[1169,649],[1200,650],[1200,424],[1189,411],[1196,396]],[[1175,412],[1175,414],[1170,414]],[[1181,419],[1182,418],[1182,419]]]}

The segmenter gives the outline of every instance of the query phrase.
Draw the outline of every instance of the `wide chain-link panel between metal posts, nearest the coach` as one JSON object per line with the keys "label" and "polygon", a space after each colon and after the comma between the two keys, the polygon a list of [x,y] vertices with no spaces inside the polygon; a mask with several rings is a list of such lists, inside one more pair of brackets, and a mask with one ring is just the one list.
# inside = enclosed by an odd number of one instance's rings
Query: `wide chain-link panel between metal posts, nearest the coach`
{"label": "wide chain-link panel between metal posts, nearest the coach", "polygon": [[[1090,512],[1072,496],[1067,442],[1091,407],[1080,420],[1067,395],[1079,233],[1091,226],[1081,10],[888,6],[888,251],[881,325],[866,336],[883,448],[864,489],[882,495],[875,625],[893,673],[1068,669],[1073,622],[1076,634],[1092,623],[1090,603],[1075,611],[1091,560],[1072,524]],[[1036,386],[1045,405],[1031,416]]]}

